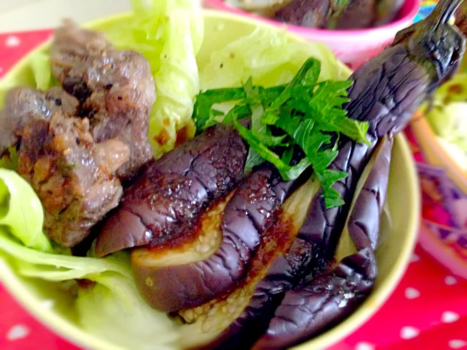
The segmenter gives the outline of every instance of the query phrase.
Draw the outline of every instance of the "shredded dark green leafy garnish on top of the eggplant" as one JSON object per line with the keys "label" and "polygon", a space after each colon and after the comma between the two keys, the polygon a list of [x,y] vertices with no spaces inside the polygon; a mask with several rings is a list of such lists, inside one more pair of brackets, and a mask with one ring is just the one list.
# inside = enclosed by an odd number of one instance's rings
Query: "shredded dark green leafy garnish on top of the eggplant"
{"label": "shredded dark green leafy garnish on top of the eggplant", "polygon": [[[212,89],[198,95],[193,118],[200,133],[216,123],[234,123],[250,145],[245,171],[264,161],[272,163],[284,180],[296,179],[310,166],[323,188],[326,208],[344,204],[333,185],[347,173],[328,169],[338,155],[340,135],[360,143],[367,139],[368,123],[347,117],[352,81],[319,82],[321,62],[305,61],[287,85],[254,86],[248,79],[240,88]],[[234,103],[226,113],[215,105]],[[251,118],[251,127],[241,119]],[[295,159],[297,149],[305,157]]]}

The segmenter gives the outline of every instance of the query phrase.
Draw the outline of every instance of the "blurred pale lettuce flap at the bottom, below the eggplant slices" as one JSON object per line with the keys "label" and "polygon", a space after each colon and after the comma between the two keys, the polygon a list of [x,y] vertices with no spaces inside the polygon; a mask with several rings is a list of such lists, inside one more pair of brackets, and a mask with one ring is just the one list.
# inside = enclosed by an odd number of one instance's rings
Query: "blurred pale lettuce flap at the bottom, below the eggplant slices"
{"label": "blurred pale lettuce flap at the bottom, below the eggplant slices", "polygon": [[174,349],[176,325],[146,303],[132,280],[111,272],[88,279],[98,284],[80,289],[76,308],[89,333],[112,339],[124,349]]}

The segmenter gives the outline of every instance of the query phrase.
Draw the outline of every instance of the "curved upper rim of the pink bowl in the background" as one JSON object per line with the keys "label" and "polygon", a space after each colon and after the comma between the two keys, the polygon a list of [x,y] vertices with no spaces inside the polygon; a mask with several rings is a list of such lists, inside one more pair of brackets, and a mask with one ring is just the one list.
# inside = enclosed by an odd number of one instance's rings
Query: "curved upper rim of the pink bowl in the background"
{"label": "curved upper rim of the pink bowl in the background", "polygon": [[350,37],[355,37],[355,36],[361,37],[365,35],[386,36],[388,31],[393,32],[395,29],[397,30],[402,29],[404,26],[406,26],[408,21],[411,21],[415,18],[415,16],[417,15],[420,9],[422,0],[413,0],[413,6],[411,7],[410,11],[405,16],[398,18],[395,21],[392,21],[383,26],[366,28],[366,29],[357,29],[357,30],[332,30],[332,31],[327,30],[327,29],[306,28],[306,27],[301,27],[301,26],[297,26],[293,24],[281,23],[279,21],[275,21],[269,18],[264,18],[258,15],[240,10],[236,7],[226,5],[225,2],[222,0],[204,0],[204,3],[211,5],[211,6],[215,6],[217,9],[221,9],[223,11],[245,16],[248,18],[259,19],[269,24],[272,24],[274,26],[279,26],[279,27],[283,26],[287,28],[288,30],[291,30],[299,35],[316,35],[316,36],[322,37],[323,39],[326,39],[326,38],[329,39],[329,38],[335,38],[335,37],[344,37],[348,39]]}

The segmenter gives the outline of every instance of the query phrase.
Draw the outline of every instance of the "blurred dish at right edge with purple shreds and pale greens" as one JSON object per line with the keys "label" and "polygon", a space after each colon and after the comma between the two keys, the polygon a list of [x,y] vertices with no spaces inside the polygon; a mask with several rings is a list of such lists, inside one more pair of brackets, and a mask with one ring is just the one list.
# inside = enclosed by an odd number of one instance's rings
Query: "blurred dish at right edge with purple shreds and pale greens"
{"label": "blurred dish at right edge with purple shreds and pale greens", "polygon": [[[433,1],[427,1],[426,17]],[[464,3],[456,25],[467,32]],[[467,60],[420,108],[406,134],[422,190],[420,244],[434,259],[467,278]]]}

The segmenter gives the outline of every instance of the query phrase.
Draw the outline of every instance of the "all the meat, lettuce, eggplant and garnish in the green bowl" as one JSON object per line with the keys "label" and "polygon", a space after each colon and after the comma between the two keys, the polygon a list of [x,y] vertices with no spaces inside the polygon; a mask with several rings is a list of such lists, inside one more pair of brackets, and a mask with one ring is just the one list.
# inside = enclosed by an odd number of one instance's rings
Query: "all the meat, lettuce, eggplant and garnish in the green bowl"
{"label": "all the meat, lettuce, eggplant and garnish in the green bowl", "polygon": [[[282,349],[335,325],[377,277],[393,138],[463,54],[465,38],[440,19],[451,3],[350,80],[260,28],[198,72],[199,7],[136,4],[107,38],[66,23],[29,85],[5,89],[13,170],[0,172],[0,249],[20,275],[78,280],[82,327],[127,348]],[[433,48],[439,70],[417,51],[439,35],[425,33],[434,23],[452,41]],[[122,134],[141,116],[138,144],[155,157],[119,173],[137,144]],[[119,186],[117,206],[88,199]]]}

